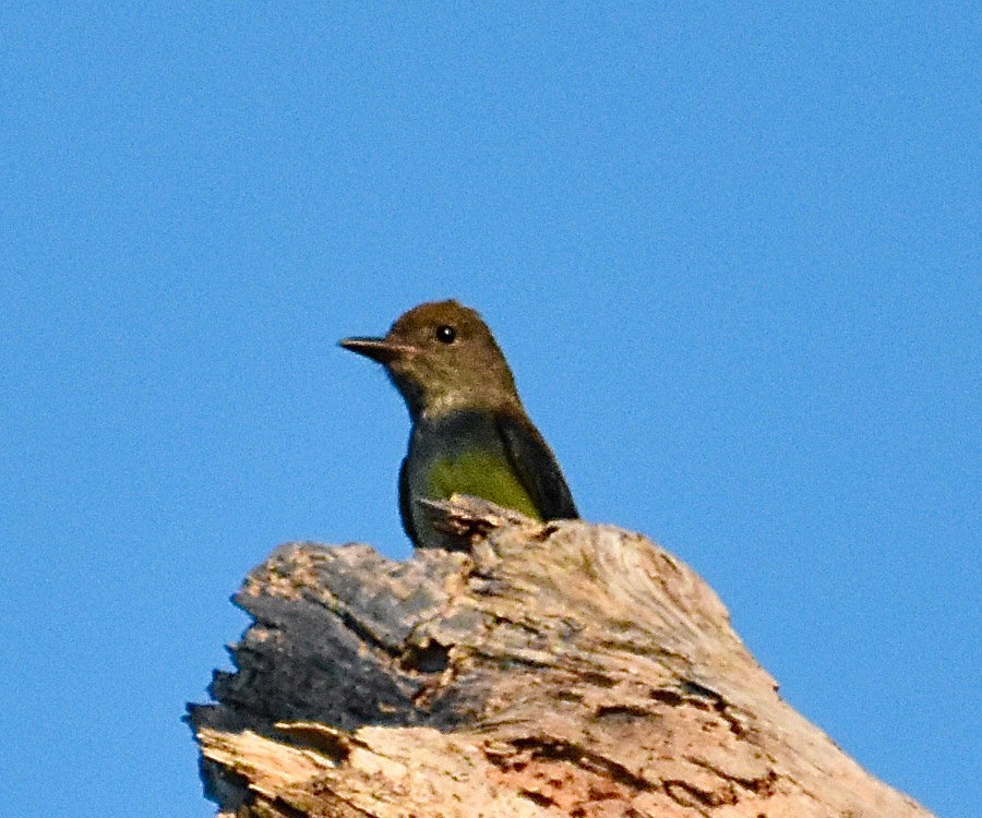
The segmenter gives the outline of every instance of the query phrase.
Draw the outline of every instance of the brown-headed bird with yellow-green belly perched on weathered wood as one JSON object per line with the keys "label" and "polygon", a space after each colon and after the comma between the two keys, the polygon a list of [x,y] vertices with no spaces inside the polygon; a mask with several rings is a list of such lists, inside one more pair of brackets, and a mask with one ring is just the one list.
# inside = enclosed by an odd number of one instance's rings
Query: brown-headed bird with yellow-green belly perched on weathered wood
{"label": "brown-headed bird with yellow-green belly perched on weathered wood", "polygon": [[453,300],[422,303],[384,337],[339,345],[381,363],[406,401],[412,429],[399,469],[399,516],[417,548],[443,548],[420,500],[470,494],[540,521],[579,517],[475,310]]}

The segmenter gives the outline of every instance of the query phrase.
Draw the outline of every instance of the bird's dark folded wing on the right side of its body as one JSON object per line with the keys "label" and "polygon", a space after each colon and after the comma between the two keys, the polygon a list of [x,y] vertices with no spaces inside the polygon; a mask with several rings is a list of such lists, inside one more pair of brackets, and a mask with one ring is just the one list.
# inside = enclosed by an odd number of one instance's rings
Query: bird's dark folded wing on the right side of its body
{"label": "bird's dark folded wing on the right side of its body", "polygon": [[538,430],[519,424],[508,414],[496,419],[498,433],[515,473],[544,520],[574,520],[579,517],[563,472]]}

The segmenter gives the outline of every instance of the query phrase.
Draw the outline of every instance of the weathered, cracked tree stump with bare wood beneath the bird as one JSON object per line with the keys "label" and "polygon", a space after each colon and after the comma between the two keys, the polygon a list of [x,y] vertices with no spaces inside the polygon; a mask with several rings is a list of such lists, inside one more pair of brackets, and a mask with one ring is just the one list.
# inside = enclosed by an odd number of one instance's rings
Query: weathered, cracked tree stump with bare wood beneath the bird
{"label": "weathered, cracked tree stump with bare wood beneath the bird", "polygon": [[716,594],[645,538],[434,504],[456,551],[286,545],[190,708],[241,818],[930,815],[777,694]]}

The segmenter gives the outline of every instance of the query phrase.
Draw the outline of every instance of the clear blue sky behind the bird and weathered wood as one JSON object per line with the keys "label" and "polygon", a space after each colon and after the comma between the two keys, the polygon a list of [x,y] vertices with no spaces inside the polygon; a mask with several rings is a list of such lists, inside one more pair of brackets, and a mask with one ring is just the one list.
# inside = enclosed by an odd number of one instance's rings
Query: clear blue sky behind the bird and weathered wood
{"label": "clear blue sky behind the bird and weathered wood", "polygon": [[[968,3],[0,12],[0,802],[208,816],[179,719],[278,543],[404,557],[408,423],[339,350],[482,312],[587,518],[783,695],[982,801]],[[51,770],[57,770],[51,775]]]}

